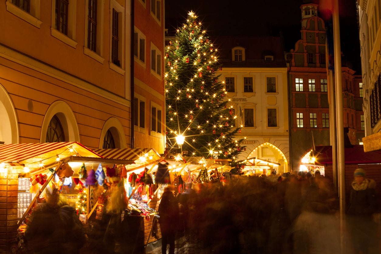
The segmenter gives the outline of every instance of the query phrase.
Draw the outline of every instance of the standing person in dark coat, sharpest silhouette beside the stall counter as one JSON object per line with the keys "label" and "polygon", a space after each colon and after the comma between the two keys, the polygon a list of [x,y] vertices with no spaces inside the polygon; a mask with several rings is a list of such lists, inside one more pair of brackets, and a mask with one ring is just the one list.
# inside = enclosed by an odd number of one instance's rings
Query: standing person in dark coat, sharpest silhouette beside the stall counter
{"label": "standing person in dark coat, sharpest silhouette beside the stall counter", "polygon": [[170,187],[164,189],[158,212],[162,232],[162,254],[166,254],[167,244],[169,244],[169,254],[174,254],[174,240],[179,228],[179,206]]}

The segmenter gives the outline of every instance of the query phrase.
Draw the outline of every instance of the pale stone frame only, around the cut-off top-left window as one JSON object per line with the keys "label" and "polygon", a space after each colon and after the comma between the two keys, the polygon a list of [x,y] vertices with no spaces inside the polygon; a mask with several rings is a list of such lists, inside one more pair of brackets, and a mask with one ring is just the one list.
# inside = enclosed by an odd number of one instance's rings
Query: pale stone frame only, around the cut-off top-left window
{"label": "pale stone frame only, around the cut-off top-left window", "polygon": [[29,24],[40,28],[42,21],[40,20],[40,0],[30,0],[29,12],[22,10],[12,3],[12,0],[6,0],[6,10]]}

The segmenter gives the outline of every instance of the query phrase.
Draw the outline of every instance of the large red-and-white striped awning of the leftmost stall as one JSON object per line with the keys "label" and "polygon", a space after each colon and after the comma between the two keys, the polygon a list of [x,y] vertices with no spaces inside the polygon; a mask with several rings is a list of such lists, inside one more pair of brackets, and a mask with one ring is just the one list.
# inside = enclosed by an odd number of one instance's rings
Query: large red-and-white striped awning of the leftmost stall
{"label": "large red-and-white striped awning of the leftmost stall", "polygon": [[51,164],[56,161],[57,156],[62,159],[73,155],[102,158],[78,142],[0,145],[0,163],[7,163],[11,166],[27,166],[30,169],[39,168],[40,163],[43,165]]}

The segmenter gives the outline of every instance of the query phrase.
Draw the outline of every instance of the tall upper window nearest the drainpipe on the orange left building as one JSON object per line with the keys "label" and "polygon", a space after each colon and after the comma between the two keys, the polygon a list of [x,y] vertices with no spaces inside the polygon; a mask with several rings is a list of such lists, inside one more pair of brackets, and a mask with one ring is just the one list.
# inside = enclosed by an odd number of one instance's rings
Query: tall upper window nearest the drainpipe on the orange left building
{"label": "tall upper window nearest the drainpipe on the orange left building", "polygon": [[[124,74],[124,7],[117,1],[110,1],[110,63],[109,67],[119,74]],[[118,68],[120,67],[120,68]]]}

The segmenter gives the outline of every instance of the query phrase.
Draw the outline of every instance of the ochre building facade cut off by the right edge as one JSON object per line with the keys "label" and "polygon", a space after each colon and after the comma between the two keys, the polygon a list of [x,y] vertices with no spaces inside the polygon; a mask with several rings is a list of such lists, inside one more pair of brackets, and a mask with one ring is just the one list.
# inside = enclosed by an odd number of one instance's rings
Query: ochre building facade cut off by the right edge
{"label": "ochre building facade cut off by the right edge", "polygon": [[363,143],[367,152],[381,149],[381,2],[357,2],[366,136]]}

